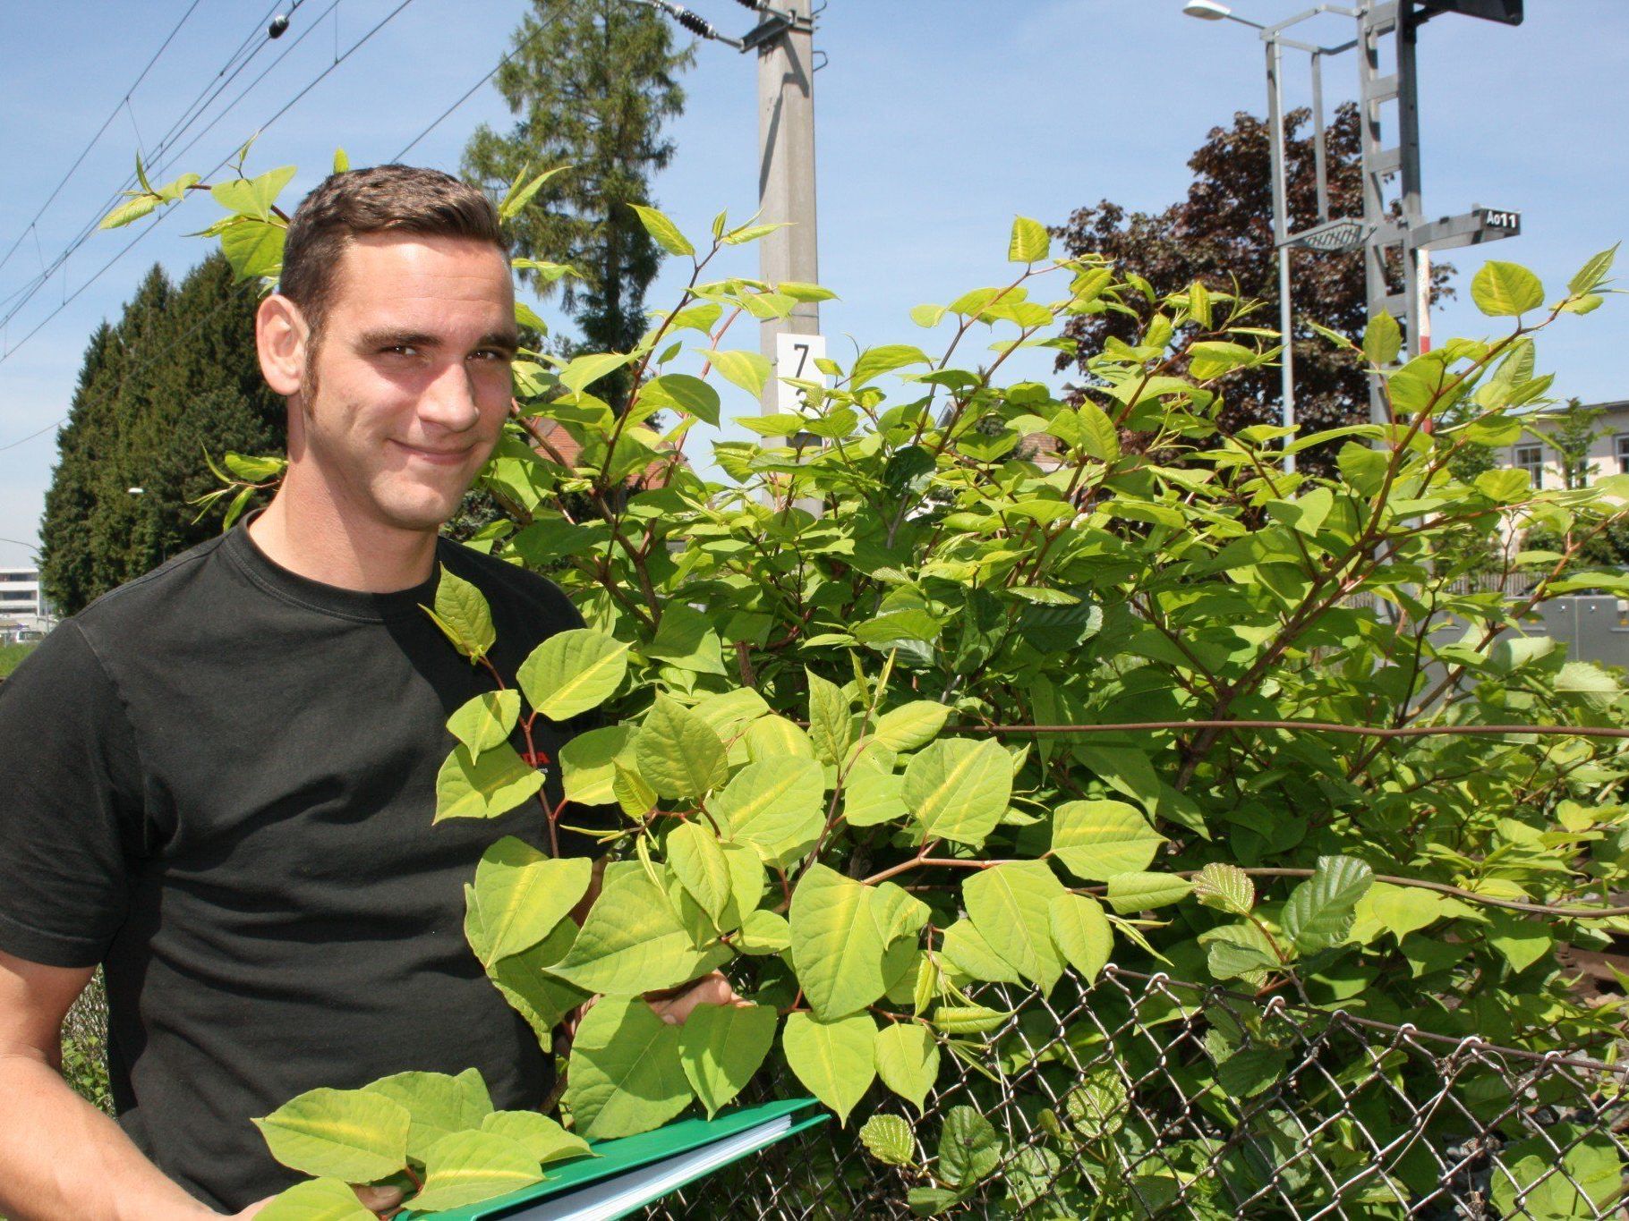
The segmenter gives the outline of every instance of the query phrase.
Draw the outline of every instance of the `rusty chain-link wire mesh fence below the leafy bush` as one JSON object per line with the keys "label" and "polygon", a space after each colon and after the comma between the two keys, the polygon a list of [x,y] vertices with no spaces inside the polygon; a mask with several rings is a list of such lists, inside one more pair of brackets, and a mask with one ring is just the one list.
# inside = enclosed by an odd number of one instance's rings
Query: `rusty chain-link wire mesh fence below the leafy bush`
{"label": "rusty chain-link wire mesh fence below the leafy bush", "polygon": [[[1626,1070],[1590,1055],[1116,967],[1090,988],[997,985],[982,1001],[1012,1016],[987,1050],[945,1060],[922,1115],[880,1088],[855,1110],[906,1117],[912,1166],[883,1164],[854,1125],[828,1123],[647,1216],[906,1218],[922,1214],[907,1192],[935,1182],[943,1193],[920,1206],[945,1216],[1629,1216]],[[994,1128],[982,1162],[963,1107]],[[961,1148],[942,1144],[946,1127]],[[958,1179],[961,1192],[943,1190]]]}

